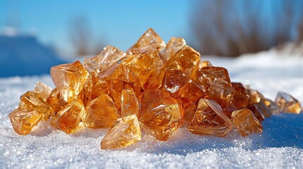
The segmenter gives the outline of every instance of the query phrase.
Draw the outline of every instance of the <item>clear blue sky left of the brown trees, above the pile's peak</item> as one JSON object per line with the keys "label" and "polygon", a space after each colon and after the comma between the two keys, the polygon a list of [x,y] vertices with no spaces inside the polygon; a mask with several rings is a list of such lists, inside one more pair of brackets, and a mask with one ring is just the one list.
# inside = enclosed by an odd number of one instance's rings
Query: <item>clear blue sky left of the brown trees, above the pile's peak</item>
{"label": "clear blue sky left of the brown trees, above the pile's peak", "polygon": [[93,41],[126,50],[148,27],[167,42],[170,37],[189,37],[192,1],[0,1],[0,27],[8,18],[18,20],[20,32],[34,31],[44,44],[70,52],[69,23],[85,16],[92,29]]}

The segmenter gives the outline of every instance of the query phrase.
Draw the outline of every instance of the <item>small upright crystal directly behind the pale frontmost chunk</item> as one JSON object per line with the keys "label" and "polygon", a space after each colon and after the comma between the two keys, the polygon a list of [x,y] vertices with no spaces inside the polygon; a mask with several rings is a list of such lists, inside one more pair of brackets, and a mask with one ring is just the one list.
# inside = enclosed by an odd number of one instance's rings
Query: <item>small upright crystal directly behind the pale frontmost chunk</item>
{"label": "small upright crystal directly behind the pale frontmost chunk", "polygon": [[139,102],[133,89],[123,89],[121,94],[121,117],[138,114]]}

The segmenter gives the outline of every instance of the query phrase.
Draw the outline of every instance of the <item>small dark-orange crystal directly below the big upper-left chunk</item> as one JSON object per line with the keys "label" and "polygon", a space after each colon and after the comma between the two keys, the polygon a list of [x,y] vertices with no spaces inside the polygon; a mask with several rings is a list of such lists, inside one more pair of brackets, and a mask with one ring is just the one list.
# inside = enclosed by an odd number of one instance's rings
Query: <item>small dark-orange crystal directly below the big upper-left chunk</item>
{"label": "small dark-orange crystal directly below the big upper-left chunk", "polygon": [[57,113],[63,106],[66,105],[66,101],[64,101],[63,96],[59,93],[59,90],[57,88],[54,88],[52,90],[46,102],[49,106],[52,107],[54,113]]}

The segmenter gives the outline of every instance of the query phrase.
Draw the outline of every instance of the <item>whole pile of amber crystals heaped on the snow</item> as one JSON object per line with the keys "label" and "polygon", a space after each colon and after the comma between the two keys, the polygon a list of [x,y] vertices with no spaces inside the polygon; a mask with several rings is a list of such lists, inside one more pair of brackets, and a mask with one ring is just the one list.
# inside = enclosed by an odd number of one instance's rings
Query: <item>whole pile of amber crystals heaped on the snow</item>
{"label": "whole pile of amber crystals heaped on the snow", "polygon": [[225,137],[262,132],[272,114],[299,113],[299,102],[283,92],[275,101],[231,82],[225,68],[201,61],[182,38],[165,42],[152,30],[124,53],[106,46],[93,58],[51,68],[56,88],[38,82],[9,114],[13,129],[28,134],[40,121],[66,134],[80,126],[109,127],[102,149],[128,146],[141,133],[165,141],[187,127],[201,135]]}

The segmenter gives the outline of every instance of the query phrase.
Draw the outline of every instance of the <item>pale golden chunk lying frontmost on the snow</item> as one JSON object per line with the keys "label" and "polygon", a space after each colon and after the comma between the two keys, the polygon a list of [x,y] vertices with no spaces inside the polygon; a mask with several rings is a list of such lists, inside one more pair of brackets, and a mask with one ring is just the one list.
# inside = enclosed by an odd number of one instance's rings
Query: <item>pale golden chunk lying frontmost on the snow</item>
{"label": "pale golden chunk lying frontmost on the snow", "polygon": [[141,129],[136,115],[119,118],[101,141],[101,149],[129,146],[141,140]]}

